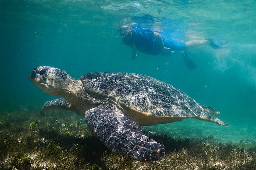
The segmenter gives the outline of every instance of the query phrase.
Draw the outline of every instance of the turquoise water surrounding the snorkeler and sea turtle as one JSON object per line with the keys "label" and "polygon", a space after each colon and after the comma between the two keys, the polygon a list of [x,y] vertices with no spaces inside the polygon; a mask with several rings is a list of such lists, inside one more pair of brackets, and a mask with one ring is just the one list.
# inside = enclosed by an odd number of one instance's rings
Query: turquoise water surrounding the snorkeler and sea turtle
{"label": "turquoise water surrounding the snorkeler and sea turtle", "polygon": [[[150,15],[142,21],[141,17]],[[139,19],[138,19],[139,18]],[[148,23],[145,23],[145,22]],[[150,21],[150,22],[149,22]],[[125,46],[117,28],[144,22],[178,39],[220,39],[230,47],[200,46],[181,57],[152,56]],[[74,78],[93,71],[132,72],[167,82],[197,102],[220,110],[228,128],[194,119],[152,126],[182,136],[256,139],[255,1],[0,1],[0,109],[38,108],[56,98],[28,80],[49,65]],[[39,114],[39,112],[38,112]]]}

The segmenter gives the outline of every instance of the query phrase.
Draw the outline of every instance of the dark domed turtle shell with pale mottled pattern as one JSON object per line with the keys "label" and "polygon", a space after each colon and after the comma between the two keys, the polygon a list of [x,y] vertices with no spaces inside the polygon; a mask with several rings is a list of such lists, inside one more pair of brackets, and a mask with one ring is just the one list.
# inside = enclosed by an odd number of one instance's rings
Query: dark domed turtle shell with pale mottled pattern
{"label": "dark domed turtle shell with pale mottled pattern", "polygon": [[110,98],[148,116],[195,117],[203,110],[179,89],[141,74],[92,72],[79,80],[90,95]]}

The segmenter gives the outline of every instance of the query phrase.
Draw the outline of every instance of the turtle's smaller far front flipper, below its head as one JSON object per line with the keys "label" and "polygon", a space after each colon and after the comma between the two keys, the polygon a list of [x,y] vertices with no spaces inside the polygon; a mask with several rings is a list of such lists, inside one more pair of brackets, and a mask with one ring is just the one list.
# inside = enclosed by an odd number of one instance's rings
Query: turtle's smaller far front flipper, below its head
{"label": "turtle's smaller far front flipper, below its head", "polygon": [[55,99],[55,100],[51,100],[44,103],[40,113],[44,114],[44,112],[48,110],[55,110],[55,109],[69,110],[69,111],[76,112],[76,107],[74,105],[69,103],[66,99],[60,98],[60,99]]}

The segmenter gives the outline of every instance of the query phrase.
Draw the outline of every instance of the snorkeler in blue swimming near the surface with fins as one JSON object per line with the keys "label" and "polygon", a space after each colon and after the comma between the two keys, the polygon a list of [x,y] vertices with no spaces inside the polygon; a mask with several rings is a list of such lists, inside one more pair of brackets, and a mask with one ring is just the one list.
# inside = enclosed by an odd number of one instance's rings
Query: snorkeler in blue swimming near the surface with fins
{"label": "snorkeler in blue swimming near the surface with fins", "polygon": [[183,59],[189,69],[195,69],[196,64],[189,58],[186,52],[187,49],[201,45],[209,45],[214,49],[227,47],[219,46],[211,39],[191,40],[183,43],[162,36],[159,32],[145,26],[131,27],[124,25],[119,27],[118,31],[121,36],[124,36],[124,44],[132,47],[132,60],[135,60],[137,56],[136,50],[155,56],[158,54],[171,55],[175,51],[182,51]]}

